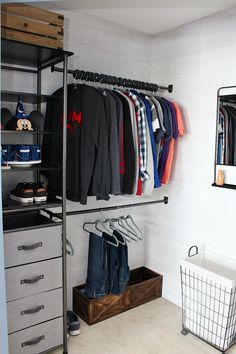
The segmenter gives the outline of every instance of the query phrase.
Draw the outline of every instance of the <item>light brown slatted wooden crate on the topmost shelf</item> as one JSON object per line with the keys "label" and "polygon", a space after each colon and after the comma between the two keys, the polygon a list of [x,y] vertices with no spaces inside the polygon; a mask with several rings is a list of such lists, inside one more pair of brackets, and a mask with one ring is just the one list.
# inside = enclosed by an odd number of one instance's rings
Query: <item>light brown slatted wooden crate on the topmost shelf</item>
{"label": "light brown slatted wooden crate on the topmost shelf", "polygon": [[63,49],[64,16],[22,3],[1,4],[2,37]]}

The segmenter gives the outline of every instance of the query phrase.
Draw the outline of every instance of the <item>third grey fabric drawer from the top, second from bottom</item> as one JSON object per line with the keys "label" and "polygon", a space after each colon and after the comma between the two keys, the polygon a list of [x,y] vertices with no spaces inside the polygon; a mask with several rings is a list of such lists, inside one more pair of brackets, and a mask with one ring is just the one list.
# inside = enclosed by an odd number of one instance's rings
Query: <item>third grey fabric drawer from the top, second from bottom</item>
{"label": "third grey fabric drawer from the top, second from bottom", "polygon": [[62,289],[8,302],[8,333],[62,316]]}

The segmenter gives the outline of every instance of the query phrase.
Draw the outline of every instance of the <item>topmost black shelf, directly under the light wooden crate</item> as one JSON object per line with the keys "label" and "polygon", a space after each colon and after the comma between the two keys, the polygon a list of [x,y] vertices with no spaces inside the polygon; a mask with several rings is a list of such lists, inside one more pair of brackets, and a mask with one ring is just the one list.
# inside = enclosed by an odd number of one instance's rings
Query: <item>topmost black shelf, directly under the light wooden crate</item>
{"label": "topmost black shelf, directly under the light wooden crate", "polygon": [[21,65],[42,70],[63,62],[65,54],[67,57],[73,55],[72,52],[62,49],[21,43],[5,38],[2,38],[1,43],[1,62],[7,65]]}

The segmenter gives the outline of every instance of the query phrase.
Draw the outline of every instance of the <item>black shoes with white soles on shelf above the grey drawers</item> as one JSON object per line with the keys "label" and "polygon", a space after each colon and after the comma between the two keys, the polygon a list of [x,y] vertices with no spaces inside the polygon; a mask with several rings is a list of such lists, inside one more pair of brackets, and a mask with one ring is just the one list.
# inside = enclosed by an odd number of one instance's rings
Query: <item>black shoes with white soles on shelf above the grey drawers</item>
{"label": "black shoes with white soles on shelf above the grey drawers", "polygon": [[47,191],[42,183],[18,183],[16,188],[10,191],[10,199],[20,203],[43,203],[47,201]]}

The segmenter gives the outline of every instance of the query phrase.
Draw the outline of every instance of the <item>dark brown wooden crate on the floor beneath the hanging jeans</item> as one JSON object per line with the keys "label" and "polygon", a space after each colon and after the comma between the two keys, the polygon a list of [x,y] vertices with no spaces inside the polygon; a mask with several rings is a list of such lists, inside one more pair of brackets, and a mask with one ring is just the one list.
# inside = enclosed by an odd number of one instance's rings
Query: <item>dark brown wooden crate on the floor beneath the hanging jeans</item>
{"label": "dark brown wooden crate on the floor beneath the hanging jeans", "polygon": [[89,299],[80,290],[85,285],[73,288],[73,309],[89,325],[118,315],[162,295],[162,275],[146,267],[131,271],[127,288],[119,295],[106,295]]}

